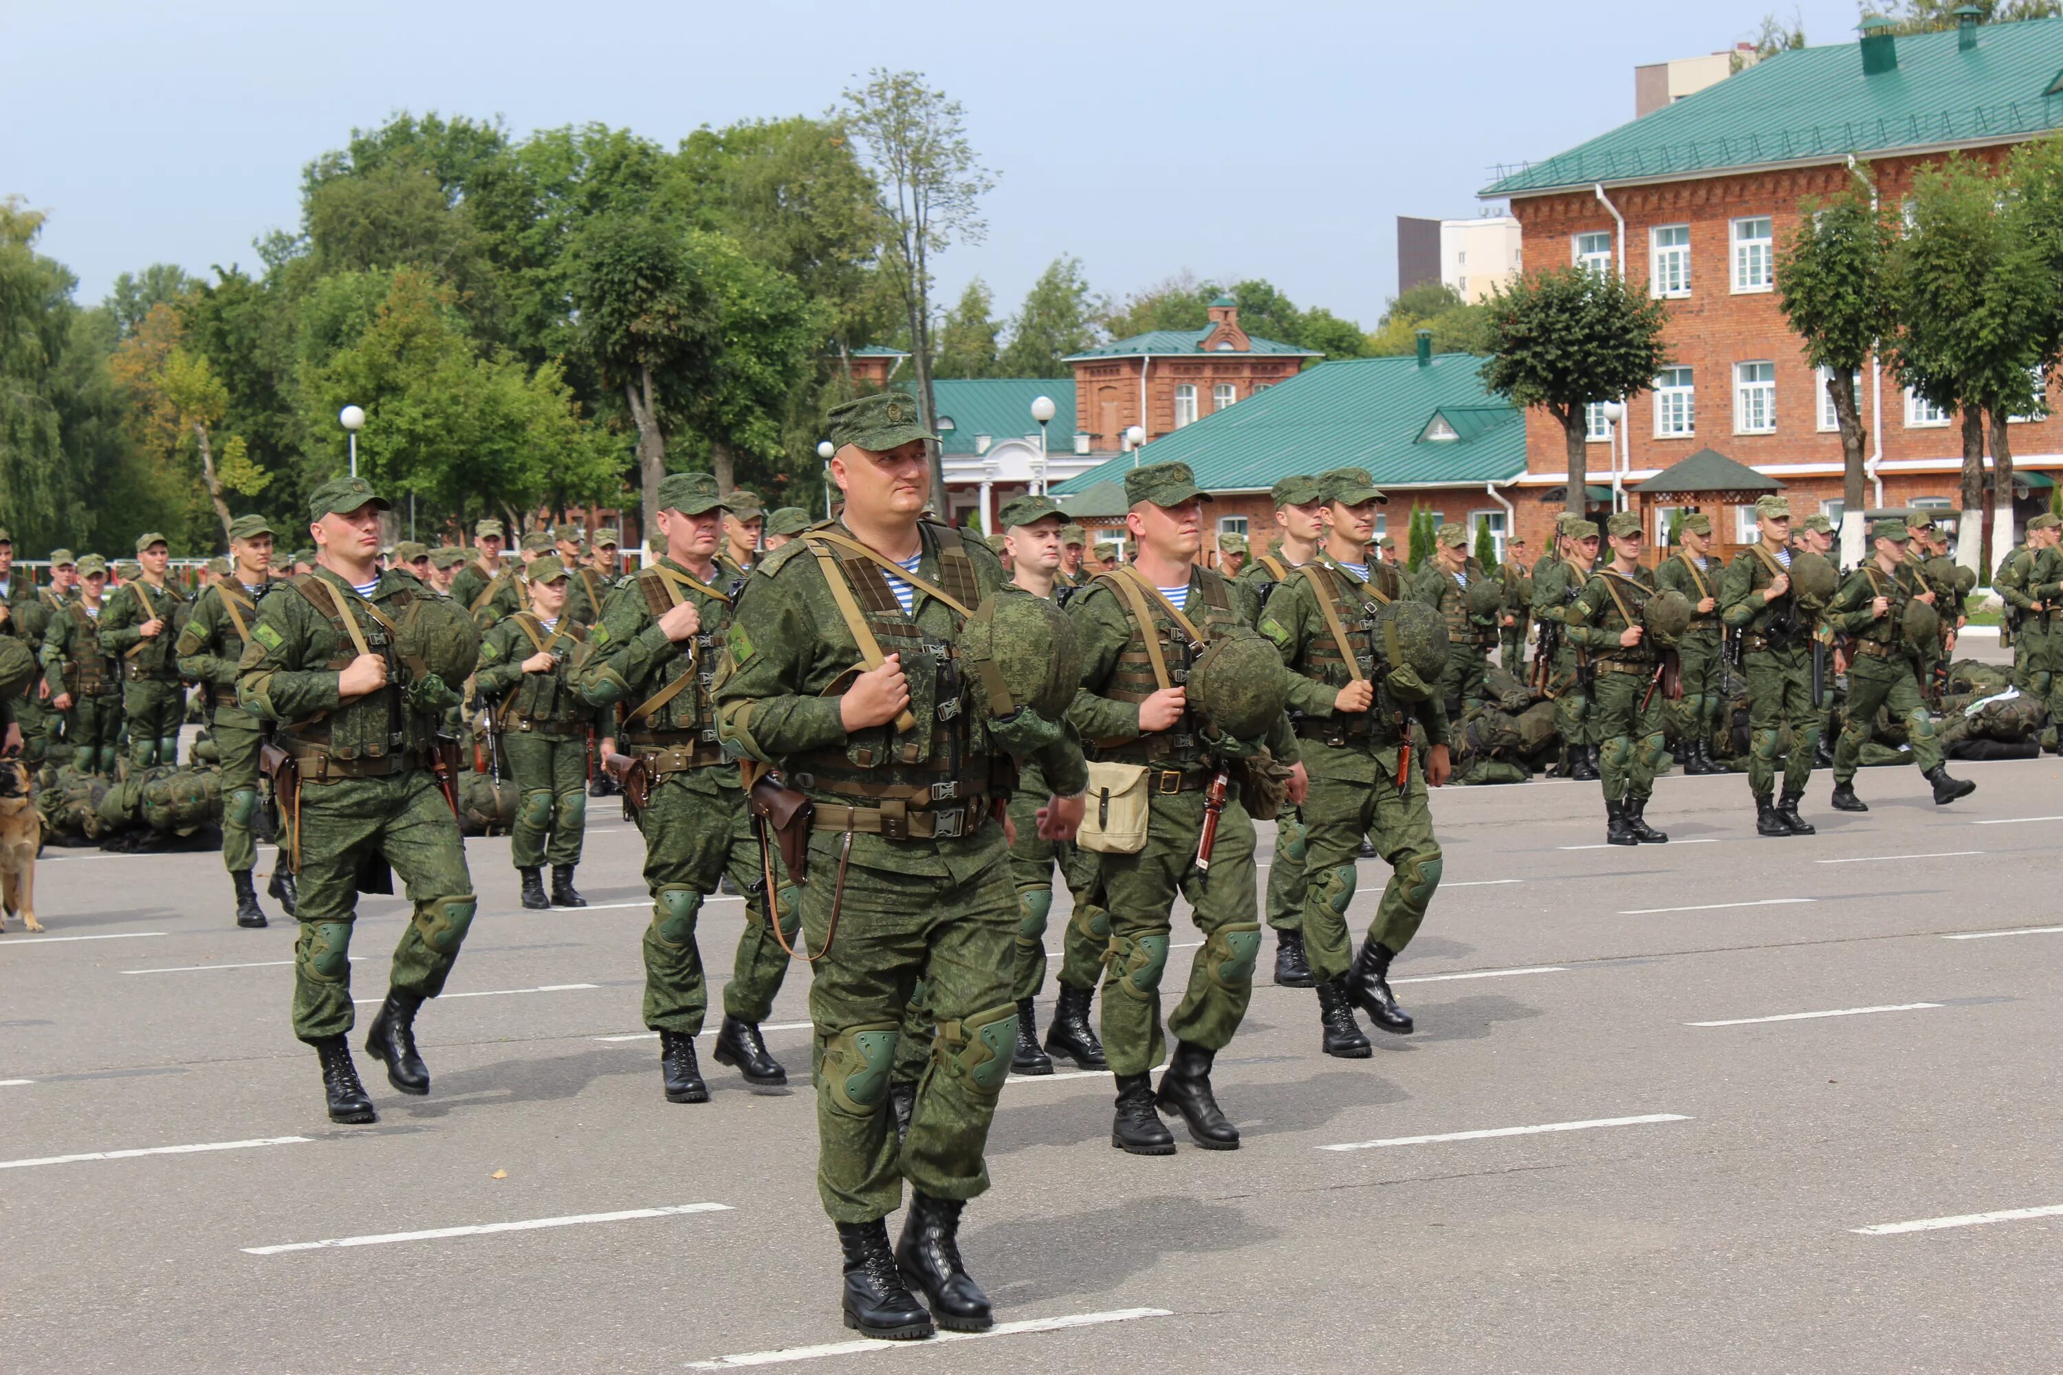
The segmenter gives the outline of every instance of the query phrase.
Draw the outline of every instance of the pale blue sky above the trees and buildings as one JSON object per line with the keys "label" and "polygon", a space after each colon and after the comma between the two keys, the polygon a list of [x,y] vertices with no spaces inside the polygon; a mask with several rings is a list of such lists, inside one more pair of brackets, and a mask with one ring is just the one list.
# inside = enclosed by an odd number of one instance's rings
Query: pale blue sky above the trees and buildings
{"label": "pale blue sky above the trees and buildings", "polygon": [[[980,274],[1007,311],[1073,254],[1114,297],[1265,276],[1372,328],[1397,214],[1475,214],[1494,163],[1624,124],[1636,64],[1751,37],[1770,2],[0,0],[0,196],[50,210],[43,251],[97,301],[149,262],[256,266],[301,167],[394,109],[670,144],[914,68],[998,173],[988,239],[939,260],[945,301]],[[1853,39],[1853,0],[1795,8],[1813,43]]]}

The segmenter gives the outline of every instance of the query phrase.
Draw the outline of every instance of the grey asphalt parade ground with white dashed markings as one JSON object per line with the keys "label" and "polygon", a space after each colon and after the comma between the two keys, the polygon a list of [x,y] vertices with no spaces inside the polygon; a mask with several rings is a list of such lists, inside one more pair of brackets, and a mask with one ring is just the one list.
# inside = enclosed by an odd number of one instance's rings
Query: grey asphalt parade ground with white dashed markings
{"label": "grey asphalt parade ground with white dashed markings", "polygon": [[[1135,1159],[1108,1076],[1013,1078],[963,1231],[1001,1326],[928,1344],[840,1326],[807,1086],[703,1041],[712,1101],[660,1097],[613,802],[586,911],[522,911],[507,841],[468,845],[433,1093],[361,1053],[371,1128],[324,1117],[274,903],[239,932],[215,853],[50,849],[47,934],[0,936],[0,1369],[2053,1371],[2063,761],[1952,769],[1950,808],[1865,769],[1859,816],[1815,773],[1797,839],[1741,777],[1671,775],[1638,849],[1595,783],[1438,794],[1417,1035],[1322,1058],[1269,940],[1215,1074],[1238,1152],[1176,1126]],[[706,907],[716,971],[741,911]],[[363,901],[365,1004],[400,913]],[[807,981],[767,1022],[798,1084]]]}

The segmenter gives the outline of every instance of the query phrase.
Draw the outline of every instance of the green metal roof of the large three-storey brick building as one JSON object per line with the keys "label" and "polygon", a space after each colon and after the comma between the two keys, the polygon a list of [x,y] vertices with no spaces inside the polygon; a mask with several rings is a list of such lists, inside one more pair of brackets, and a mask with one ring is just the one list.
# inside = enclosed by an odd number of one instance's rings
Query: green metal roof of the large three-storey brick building
{"label": "green metal roof of the large three-storey brick building", "polygon": [[1859,43],[1764,58],[1673,105],[1543,163],[1500,167],[1479,194],[1529,196],[1597,181],[1690,177],[1770,163],[1826,163],[1941,144],[2032,138],[2063,126],[2063,19],[1900,33],[1898,66],[1863,74]]}

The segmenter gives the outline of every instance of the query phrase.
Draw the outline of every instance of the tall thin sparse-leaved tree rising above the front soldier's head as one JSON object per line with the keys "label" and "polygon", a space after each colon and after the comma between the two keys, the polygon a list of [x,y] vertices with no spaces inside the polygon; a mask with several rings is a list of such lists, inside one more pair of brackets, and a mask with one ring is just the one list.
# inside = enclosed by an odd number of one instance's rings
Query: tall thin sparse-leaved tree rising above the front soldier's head
{"label": "tall thin sparse-leaved tree rising above the front soldier's head", "polygon": [[[883,270],[910,322],[916,390],[928,425],[939,418],[930,385],[930,260],[955,239],[980,243],[986,237],[980,198],[994,177],[968,142],[959,101],[926,87],[920,72],[875,68],[864,87],[846,91],[842,120],[866,150],[879,188],[887,223]],[[932,493],[945,501],[945,460],[939,445],[928,447]]]}

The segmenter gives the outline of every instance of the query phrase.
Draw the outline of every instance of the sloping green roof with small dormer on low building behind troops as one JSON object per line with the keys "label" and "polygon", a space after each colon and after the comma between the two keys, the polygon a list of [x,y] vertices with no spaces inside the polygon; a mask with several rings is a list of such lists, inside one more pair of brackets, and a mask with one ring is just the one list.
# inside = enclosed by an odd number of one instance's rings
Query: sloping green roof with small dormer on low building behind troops
{"label": "sloping green roof with small dormer on low building behind troops", "polygon": [[[1327,468],[1368,468],[1376,487],[1506,482],[1527,466],[1520,412],[1483,392],[1487,359],[1434,355],[1341,359],[1304,369],[1215,410],[1139,451],[1139,462],[1182,460],[1209,491],[1267,491],[1279,478]],[[1419,439],[1434,412],[1454,439]],[[1079,493],[1116,482],[1133,456],[1112,458],[1058,487]]]}

